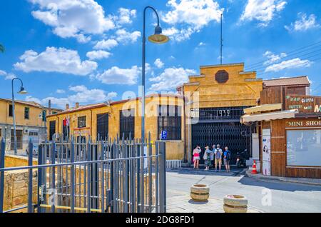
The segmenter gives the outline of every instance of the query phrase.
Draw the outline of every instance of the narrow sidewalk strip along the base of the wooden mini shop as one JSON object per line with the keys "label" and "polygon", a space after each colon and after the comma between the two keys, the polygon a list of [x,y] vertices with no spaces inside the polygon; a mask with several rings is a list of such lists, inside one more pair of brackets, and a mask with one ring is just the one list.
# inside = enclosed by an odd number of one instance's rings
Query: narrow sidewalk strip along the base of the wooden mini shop
{"label": "narrow sidewalk strip along the base of the wooden mini shop", "polygon": [[248,169],[245,172],[245,176],[250,178],[256,178],[261,181],[283,181],[289,183],[302,183],[314,186],[321,186],[321,179],[315,178],[292,178],[292,177],[282,177],[282,176],[265,176],[262,173],[253,174],[251,173],[252,169]]}

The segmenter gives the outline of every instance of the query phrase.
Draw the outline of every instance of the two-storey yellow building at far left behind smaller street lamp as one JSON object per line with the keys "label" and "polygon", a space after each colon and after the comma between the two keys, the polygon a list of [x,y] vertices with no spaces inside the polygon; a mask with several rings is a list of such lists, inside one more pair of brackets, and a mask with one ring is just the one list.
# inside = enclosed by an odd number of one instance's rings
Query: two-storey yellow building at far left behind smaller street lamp
{"label": "two-storey yellow building at far left behind smaller street lamp", "polygon": [[[33,101],[15,101],[17,151],[25,153],[29,139],[35,145],[45,138],[47,108]],[[11,99],[0,99],[0,138],[6,140],[6,151],[14,151],[14,118]],[[58,109],[52,111],[58,112]]]}

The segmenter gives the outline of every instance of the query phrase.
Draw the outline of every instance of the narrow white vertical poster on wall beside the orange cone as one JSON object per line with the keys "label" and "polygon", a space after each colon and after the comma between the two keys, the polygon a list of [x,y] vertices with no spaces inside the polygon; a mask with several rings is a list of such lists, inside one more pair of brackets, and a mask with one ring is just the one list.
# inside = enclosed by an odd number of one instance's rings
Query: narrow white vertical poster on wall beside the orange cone
{"label": "narrow white vertical poster on wall beside the orange cone", "polygon": [[270,129],[263,129],[262,136],[263,146],[263,175],[271,175],[271,131]]}

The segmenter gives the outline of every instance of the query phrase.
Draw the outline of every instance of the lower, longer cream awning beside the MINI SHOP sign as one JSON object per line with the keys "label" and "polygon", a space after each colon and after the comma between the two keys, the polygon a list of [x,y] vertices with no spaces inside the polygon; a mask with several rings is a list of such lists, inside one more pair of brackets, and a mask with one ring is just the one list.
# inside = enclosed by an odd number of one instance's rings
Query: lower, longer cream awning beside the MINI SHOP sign
{"label": "lower, longer cream awning beside the MINI SHOP sign", "polygon": [[277,111],[266,114],[245,114],[241,116],[241,123],[250,123],[255,121],[271,121],[285,118],[295,118],[295,114],[298,113],[297,109],[291,109],[288,111]]}

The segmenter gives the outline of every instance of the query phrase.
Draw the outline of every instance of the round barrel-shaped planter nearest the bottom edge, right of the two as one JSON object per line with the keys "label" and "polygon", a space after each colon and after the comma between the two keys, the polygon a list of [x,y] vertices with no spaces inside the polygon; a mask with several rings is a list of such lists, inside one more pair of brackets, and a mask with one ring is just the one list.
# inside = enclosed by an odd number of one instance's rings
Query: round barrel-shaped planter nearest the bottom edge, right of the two
{"label": "round barrel-shaped planter nearest the bottom edge, right of the two", "polygon": [[245,196],[228,195],[223,198],[225,213],[247,213],[248,198]]}

